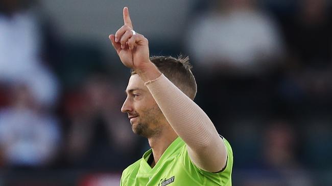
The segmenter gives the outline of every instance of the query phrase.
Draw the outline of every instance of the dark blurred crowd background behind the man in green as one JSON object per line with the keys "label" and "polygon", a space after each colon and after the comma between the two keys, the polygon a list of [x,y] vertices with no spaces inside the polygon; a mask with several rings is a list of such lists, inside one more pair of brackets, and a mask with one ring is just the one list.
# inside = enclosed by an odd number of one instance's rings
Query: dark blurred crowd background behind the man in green
{"label": "dark blurred crowd background behind the man in green", "polygon": [[149,148],[120,111],[108,35],[129,7],[152,55],[189,55],[233,185],[332,185],[328,0],[0,1],[0,185],[118,185]]}

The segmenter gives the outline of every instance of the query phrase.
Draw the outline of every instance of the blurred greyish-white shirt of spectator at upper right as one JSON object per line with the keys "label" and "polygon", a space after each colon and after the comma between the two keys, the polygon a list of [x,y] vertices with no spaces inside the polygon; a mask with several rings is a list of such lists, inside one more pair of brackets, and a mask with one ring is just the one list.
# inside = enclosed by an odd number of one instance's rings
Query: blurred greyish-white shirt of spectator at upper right
{"label": "blurred greyish-white shirt of spectator at upper right", "polygon": [[[281,40],[272,19],[252,9],[208,13],[193,23],[187,47],[198,65],[214,68],[221,64],[240,72],[262,71],[281,53]],[[264,64],[263,64],[264,66]]]}

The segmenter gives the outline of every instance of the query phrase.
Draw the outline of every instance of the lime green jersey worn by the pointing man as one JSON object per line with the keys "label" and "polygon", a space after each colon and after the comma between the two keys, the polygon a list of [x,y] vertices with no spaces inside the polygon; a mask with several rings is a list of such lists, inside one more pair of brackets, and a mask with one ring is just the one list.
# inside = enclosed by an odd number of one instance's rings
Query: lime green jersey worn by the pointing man
{"label": "lime green jersey worn by the pointing man", "polygon": [[164,151],[153,168],[147,163],[152,149],[145,152],[143,158],[127,167],[121,176],[121,186],[230,186],[233,153],[228,141],[224,138],[223,140],[227,149],[227,165],[221,172],[207,172],[194,165],[189,158],[186,144],[178,137]]}

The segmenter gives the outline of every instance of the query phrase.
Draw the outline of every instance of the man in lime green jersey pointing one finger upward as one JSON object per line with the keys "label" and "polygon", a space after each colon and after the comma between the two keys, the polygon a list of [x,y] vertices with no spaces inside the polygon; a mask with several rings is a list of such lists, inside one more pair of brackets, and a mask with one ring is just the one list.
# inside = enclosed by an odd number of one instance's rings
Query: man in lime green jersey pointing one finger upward
{"label": "man in lime green jersey pointing one finger upward", "polygon": [[148,40],[124,25],[110,35],[122,63],[132,69],[121,109],[151,149],[124,170],[121,185],[231,185],[229,143],[193,102],[197,87],[187,58],[149,57]]}

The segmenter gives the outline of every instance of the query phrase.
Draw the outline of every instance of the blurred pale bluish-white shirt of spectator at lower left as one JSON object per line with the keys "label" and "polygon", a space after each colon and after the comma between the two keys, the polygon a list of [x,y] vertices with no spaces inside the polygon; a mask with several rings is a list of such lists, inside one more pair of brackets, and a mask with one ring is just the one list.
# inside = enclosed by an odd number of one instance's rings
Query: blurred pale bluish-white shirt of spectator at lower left
{"label": "blurred pale bluish-white shirt of spectator at lower left", "polygon": [[9,108],[0,112],[0,148],[5,162],[16,166],[45,165],[59,147],[58,122],[27,108]]}

